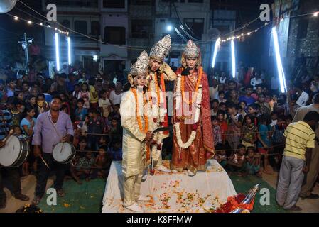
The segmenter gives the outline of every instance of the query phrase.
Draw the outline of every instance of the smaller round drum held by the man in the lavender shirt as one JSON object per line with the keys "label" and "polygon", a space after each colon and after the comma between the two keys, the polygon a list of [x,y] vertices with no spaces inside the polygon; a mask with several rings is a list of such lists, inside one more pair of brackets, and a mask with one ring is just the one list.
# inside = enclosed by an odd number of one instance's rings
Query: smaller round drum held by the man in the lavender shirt
{"label": "smaller round drum held by the man in the lavender shirt", "polygon": [[70,143],[58,143],[53,148],[53,159],[57,162],[67,164],[75,157],[75,147]]}

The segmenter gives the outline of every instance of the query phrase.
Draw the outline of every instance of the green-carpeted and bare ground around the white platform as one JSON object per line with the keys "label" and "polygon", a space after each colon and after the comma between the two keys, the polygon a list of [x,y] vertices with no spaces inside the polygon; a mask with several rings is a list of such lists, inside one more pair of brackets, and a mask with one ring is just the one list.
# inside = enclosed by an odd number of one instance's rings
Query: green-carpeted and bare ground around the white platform
{"label": "green-carpeted and bare ground around the white platform", "polygon": [[[255,184],[260,183],[260,188],[267,188],[270,191],[270,205],[261,206],[259,203],[259,198],[261,194],[257,194],[254,206],[254,212],[256,213],[283,213],[285,212],[281,209],[274,200],[275,189],[277,181],[277,173],[274,175],[263,175],[263,179],[259,179],[254,176],[239,177],[236,174],[229,176],[232,179],[234,188],[237,193],[247,193],[247,191]],[[26,179],[23,179],[21,184],[23,188],[23,193],[30,196],[33,199],[33,193],[35,189],[36,177],[29,175]],[[53,184],[53,179],[48,180],[47,187]],[[64,185],[66,196],[63,199],[58,198],[57,206],[48,206],[46,204],[46,196],[40,202],[39,207],[43,209],[44,212],[55,213],[99,213],[102,209],[102,198],[104,194],[105,182],[102,179],[95,179],[91,182],[83,182],[79,185],[73,180],[67,180]],[[23,201],[18,201],[11,196],[8,189],[5,189],[7,194],[7,205],[6,209],[0,210],[0,213],[15,212],[21,206],[25,204]],[[315,194],[319,194],[319,184],[316,184],[314,189]],[[299,199],[298,206],[303,209],[302,212],[319,212],[318,200],[313,199]]]}

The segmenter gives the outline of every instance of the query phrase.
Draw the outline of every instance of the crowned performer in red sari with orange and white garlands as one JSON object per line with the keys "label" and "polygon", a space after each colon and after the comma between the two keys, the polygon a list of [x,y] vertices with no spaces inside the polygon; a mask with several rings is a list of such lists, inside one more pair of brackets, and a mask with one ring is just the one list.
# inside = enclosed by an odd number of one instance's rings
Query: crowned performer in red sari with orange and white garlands
{"label": "crowned performer in red sari with orange and white garlands", "polygon": [[188,170],[193,176],[206,170],[214,155],[208,79],[201,66],[200,49],[188,41],[176,72],[174,88],[173,172]]}

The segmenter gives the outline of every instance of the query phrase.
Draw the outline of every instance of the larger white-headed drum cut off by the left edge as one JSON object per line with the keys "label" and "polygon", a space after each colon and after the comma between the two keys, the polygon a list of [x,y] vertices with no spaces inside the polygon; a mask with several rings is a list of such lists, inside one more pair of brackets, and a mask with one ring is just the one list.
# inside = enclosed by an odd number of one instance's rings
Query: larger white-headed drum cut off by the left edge
{"label": "larger white-headed drum cut off by the left edge", "polygon": [[16,135],[6,138],[6,145],[0,148],[0,165],[4,167],[19,167],[30,153],[28,141]]}

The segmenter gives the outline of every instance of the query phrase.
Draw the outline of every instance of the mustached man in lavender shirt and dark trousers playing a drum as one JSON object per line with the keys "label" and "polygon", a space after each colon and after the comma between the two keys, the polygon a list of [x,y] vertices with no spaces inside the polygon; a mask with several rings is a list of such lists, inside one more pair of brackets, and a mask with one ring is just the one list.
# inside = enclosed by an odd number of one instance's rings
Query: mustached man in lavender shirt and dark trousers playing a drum
{"label": "mustached man in lavender shirt and dark trousers playing a drum", "polygon": [[[32,201],[33,205],[38,205],[45,194],[45,186],[51,170],[56,170],[56,179],[54,188],[58,196],[63,197],[63,180],[66,165],[53,160],[53,148],[60,142],[69,142],[74,135],[72,121],[68,114],[60,111],[62,100],[60,96],[55,96],[51,101],[51,109],[40,114],[34,128],[32,144],[33,152],[36,157],[42,157],[40,162],[40,170],[36,182],[35,197]],[[61,138],[62,137],[62,138]],[[48,165],[48,167],[47,167]]]}

